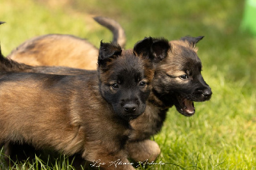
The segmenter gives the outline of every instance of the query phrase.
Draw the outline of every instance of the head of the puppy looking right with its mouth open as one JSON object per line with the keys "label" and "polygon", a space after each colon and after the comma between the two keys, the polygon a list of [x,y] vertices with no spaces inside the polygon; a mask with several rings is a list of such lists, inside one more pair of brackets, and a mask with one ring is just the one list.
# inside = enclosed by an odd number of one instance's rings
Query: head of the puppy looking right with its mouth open
{"label": "head of the puppy looking right with its mouth open", "polygon": [[159,98],[164,105],[175,105],[184,116],[195,114],[193,102],[204,102],[212,95],[211,88],[202,77],[202,63],[196,54],[198,49],[195,45],[203,37],[172,41],[172,52],[159,63],[156,71],[154,93],[161,95]]}

